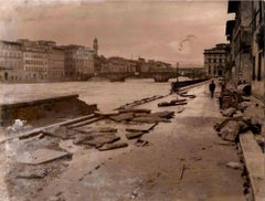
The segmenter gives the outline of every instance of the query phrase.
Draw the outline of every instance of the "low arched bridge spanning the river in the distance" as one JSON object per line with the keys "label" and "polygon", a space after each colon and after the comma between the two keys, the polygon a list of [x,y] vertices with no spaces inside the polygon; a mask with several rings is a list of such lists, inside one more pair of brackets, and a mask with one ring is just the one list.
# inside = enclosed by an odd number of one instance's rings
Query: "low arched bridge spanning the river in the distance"
{"label": "low arched bridge spanning the river in the distance", "polygon": [[110,82],[124,82],[126,78],[153,78],[155,82],[168,82],[169,78],[177,77],[176,72],[145,72],[145,73],[97,73],[95,77],[105,77]]}

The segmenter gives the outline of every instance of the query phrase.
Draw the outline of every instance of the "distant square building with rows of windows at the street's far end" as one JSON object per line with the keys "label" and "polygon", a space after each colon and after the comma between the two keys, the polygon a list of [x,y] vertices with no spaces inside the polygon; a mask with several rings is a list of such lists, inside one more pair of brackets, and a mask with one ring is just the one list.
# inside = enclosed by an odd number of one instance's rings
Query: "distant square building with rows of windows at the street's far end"
{"label": "distant square building with rows of windows at the street's far end", "polygon": [[230,61],[230,46],[225,43],[204,50],[204,68],[208,76],[226,76],[227,62]]}

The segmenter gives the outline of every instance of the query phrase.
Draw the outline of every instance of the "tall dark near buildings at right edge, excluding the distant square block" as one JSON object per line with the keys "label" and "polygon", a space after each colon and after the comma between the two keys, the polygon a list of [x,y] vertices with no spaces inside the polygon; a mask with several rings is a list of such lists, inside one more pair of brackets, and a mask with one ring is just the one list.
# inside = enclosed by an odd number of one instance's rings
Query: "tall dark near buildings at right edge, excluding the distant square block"
{"label": "tall dark near buildings at right edge, excluding the distant square block", "polygon": [[231,46],[232,81],[252,85],[252,92],[265,98],[264,0],[227,2],[227,12],[235,19],[226,22]]}

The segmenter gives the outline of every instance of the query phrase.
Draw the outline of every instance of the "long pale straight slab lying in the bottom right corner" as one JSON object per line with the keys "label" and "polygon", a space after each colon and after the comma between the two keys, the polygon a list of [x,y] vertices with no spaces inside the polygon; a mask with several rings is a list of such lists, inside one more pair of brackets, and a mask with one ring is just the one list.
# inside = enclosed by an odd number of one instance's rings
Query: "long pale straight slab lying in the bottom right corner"
{"label": "long pale straight slab lying in the bottom right corner", "polygon": [[251,180],[255,201],[265,200],[265,155],[251,131],[240,135],[245,166]]}

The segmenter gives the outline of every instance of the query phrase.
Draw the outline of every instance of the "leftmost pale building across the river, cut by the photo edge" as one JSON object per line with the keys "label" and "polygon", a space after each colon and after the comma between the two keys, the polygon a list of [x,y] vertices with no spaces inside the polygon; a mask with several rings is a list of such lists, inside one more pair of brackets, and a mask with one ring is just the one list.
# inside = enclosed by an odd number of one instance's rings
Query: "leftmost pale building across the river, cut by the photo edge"
{"label": "leftmost pale building across the river, cut by the photo edge", "polygon": [[22,57],[20,43],[0,41],[0,81],[22,80]]}

